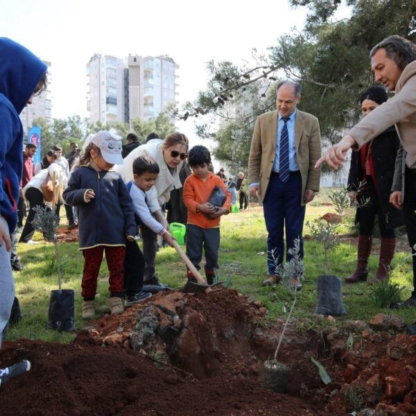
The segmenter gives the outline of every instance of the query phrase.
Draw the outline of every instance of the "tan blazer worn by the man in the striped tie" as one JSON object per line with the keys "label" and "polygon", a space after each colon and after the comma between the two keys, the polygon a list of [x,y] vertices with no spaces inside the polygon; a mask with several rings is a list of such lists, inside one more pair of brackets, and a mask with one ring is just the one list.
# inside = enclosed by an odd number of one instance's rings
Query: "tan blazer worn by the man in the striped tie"
{"label": "tan blazer worn by the man in the striped tie", "polygon": [[[248,182],[259,182],[260,199],[264,200],[273,162],[277,140],[277,110],[257,117],[254,125],[250,155],[248,157]],[[297,110],[295,121],[296,162],[302,176],[302,198],[305,189],[319,191],[320,169],[313,166],[321,156],[321,139],[318,119],[312,114]]]}

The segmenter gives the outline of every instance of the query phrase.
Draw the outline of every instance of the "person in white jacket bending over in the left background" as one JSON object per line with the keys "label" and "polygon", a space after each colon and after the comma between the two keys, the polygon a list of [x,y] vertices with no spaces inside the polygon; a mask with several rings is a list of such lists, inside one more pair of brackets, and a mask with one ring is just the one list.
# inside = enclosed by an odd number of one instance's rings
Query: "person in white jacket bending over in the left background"
{"label": "person in white jacket bending over in the left background", "polygon": [[62,168],[55,162],[51,163],[48,168],[39,171],[32,179],[26,184],[26,187],[22,190],[24,198],[29,202],[29,214],[26,218],[26,224],[21,232],[19,243],[33,244],[32,240],[35,229],[33,228],[32,221],[35,218],[35,207],[45,207],[45,205],[51,205],[49,202],[44,201],[44,194],[42,193],[42,184],[46,180],[48,175],[52,178],[55,173],[54,189],[60,189],[60,196],[62,197],[62,184],[64,181],[64,172]]}

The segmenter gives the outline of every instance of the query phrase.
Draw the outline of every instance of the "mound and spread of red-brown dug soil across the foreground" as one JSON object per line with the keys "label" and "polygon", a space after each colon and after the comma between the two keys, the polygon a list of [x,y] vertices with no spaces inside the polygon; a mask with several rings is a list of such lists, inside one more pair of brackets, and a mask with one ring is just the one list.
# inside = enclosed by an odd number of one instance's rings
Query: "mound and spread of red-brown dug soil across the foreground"
{"label": "mound and spread of red-brown dug soil across the foreground", "polygon": [[6,342],[0,367],[21,358],[33,367],[0,388],[1,415],[347,415],[352,406],[416,414],[416,336],[364,322],[324,334],[293,322],[279,352],[291,367],[287,394],[262,388],[283,324],[261,324],[264,311],[227,289],[159,293],[93,322],[71,345]]}

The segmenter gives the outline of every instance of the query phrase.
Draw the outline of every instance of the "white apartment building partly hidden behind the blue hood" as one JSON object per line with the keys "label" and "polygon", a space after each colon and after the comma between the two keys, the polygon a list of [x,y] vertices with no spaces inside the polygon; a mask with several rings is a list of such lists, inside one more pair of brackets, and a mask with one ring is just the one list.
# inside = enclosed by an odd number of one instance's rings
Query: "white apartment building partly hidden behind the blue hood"
{"label": "white apartment building partly hidden behind the blue hood", "polygon": [[52,100],[51,100],[51,62],[42,61],[48,67],[48,83],[46,91],[43,91],[39,96],[33,97],[31,105],[24,107],[24,110],[20,113],[21,123],[23,124],[23,130],[26,134],[31,129],[34,119],[42,118],[50,121],[52,119]]}

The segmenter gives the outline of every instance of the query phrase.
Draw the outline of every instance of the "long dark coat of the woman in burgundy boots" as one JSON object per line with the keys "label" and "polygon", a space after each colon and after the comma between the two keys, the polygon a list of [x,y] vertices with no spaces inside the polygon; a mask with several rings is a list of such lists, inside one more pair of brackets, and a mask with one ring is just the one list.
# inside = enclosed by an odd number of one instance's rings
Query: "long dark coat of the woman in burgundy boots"
{"label": "long dark coat of the woman in burgundy boots", "polygon": [[[395,160],[399,144],[399,137],[394,126],[375,137],[372,142],[372,161],[376,179],[375,186],[380,202],[379,218],[385,220],[385,225],[389,229],[403,225],[403,214],[388,202],[392,189]],[[362,175],[363,168],[361,167],[360,152],[353,151],[347,184],[347,188],[350,191],[356,191]],[[360,222],[360,211],[361,209],[357,209],[356,223]]]}

